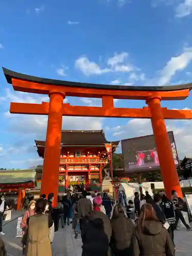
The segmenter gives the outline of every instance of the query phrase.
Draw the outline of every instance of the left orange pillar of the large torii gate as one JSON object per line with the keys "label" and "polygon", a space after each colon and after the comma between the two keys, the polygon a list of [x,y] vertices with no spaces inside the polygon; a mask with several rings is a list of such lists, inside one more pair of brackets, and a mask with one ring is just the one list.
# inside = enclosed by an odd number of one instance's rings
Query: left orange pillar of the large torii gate
{"label": "left orange pillar of the large torii gate", "polygon": [[54,194],[53,207],[57,206],[58,177],[60,163],[60,142],[62,127],[62,103],[65,95],[50,92],[44,166],[42,171],[41,194]]}

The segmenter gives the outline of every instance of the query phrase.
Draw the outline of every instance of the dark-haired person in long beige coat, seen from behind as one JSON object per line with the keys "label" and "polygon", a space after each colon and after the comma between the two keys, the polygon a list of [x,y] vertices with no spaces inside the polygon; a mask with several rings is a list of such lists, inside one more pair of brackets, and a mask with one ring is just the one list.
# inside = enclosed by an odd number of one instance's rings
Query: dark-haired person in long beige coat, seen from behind
{"label": "dark-haired person in long beige coat, seen from behind", "polygon": [[52,256],[50,227],[53,225],[51,215],[46,215],[48,203],[39,199],[35,205],[36,215],[28,218],[26,256]]}

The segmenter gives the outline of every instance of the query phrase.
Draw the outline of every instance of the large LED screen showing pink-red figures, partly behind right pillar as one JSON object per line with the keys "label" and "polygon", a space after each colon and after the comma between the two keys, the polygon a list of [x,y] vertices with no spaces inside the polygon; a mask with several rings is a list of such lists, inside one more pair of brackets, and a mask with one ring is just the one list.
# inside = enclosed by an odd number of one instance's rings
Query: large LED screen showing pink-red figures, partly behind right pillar
{"label": "large LED screen showing pink-red figures, partly behind right pillar", "polygon": [[[168,132],[175,164],[178,166],[178,155],[173,132]],[[128,173],[145,172],[159,169],[159,158],[153,135],[121,140],[124,170]]]}

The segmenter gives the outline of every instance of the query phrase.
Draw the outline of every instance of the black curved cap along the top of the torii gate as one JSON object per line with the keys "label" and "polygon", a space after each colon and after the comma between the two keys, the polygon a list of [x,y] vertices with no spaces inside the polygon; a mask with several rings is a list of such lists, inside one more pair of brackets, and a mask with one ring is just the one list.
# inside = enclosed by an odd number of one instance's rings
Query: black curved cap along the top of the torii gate
{"label": "black curved cap along the top of the torii gate", "polygon": [[55,86],[67,86],[67,87],[78,87],[78,88],[90,88],[90,89],[109,89],[109,90],[121,90],[121,91],[177,91],[184,89],[192,89],[192,83],[178,84],[176,86],[119,86],[119,85],[108,85],[108,84],[95,84],[95,83],[82,83],[63,81],[56,79],[48,79],[36,76],[25,75],[17,73],[6,68],[3,68],[4,75],[7,82],[12,84],[12,78],[20,79],[24,81],[30,81],[35,83],[52,84]]}

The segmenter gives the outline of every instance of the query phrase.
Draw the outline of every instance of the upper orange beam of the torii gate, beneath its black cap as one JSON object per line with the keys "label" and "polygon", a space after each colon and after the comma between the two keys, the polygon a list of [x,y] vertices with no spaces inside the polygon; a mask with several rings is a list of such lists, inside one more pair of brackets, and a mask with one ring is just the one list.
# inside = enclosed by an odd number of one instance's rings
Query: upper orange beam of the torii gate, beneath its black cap
{"label": "upper orange beam of the torii gate, beneath its black cap", "polygon": [[66,96],[72,97],[88,97],[88,98],[102,98],[103,96],[113,96],[115,99],[137,99],[146,100],[148,97],[161,97],[162,100],[183,100],[189,95],[189,89],[176,90],[176,91],[148,91],[141,90],[110,90],[101,88],[81,88],[72,86],[60,86],[56,84],[47,84],[40,82],[32,82],[12,78],[12,85],[15,91],[49,94],[50,91],[64,93]]}

